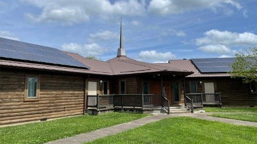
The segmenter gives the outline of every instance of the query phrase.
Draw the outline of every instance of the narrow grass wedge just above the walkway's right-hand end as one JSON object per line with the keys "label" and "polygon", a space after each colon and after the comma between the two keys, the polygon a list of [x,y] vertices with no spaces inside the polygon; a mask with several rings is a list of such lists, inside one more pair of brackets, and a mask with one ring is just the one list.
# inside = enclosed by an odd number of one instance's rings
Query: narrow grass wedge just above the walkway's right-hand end
{"label": "narrow grass wedge just above the walkway's right-hand end", "polygon": [[216,114],[211,114],[209,116],[257,122],[257,113],[229,113],[229,114],[216,113]]}

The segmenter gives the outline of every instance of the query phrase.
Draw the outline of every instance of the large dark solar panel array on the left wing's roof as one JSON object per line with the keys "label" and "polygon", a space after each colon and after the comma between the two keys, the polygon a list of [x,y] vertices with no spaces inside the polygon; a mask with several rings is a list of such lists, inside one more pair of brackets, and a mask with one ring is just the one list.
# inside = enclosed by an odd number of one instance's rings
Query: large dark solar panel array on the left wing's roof
{"label": "large dark solar panel array on the left wing's roof", "polygon": [[2,37],[0,37],[0,57],[89,68],[59,49],[24,43]]}

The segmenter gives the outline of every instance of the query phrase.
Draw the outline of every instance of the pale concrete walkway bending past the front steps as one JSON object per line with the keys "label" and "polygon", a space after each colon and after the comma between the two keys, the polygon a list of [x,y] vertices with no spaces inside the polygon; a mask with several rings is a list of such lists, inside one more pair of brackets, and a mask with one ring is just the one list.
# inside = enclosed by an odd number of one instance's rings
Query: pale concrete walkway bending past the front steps
{"label": "pale concrete walkway bending past the front steps", "polygon": [[63,144],[65,144],[65,143],[78,144],[78,143],[82,143],[82,142],[86,142],[86,141],[92,141],[92,140],[95,140],[95,139],[98,139],[101,137],[105,137],[108,135],[114,135],[114,134],[117,134],[120,132],[124,132],[124,131],[130,130],[130,129],[133,129],[136,127],[143,126],[145,124],[149,124],[151,122],[161,120],[163,118],[179,117],[179,116],[190,116],[190,117],[195,117],[195,118],[200,118],[200,119],[226,122],[226,123],[234,124],[234,125],[257,127],[257,122],[249,122],[249,121],[207,116],[209,114],[212,114],[212,113],[186,113],[186,114],[172,114],[172,115],[167,115],[167,114],[153,115],[153,116],[133,120],[133,121],[127,122],[125,124],[120,124],[120,125],[116,125],[113,127],[103,128],[103,129],[98,129],[93,132],[83,133],[83,134],[79,134],[76,136],[67,137],[67,138],[56,140],[56,141],[51,141],[51,142],[48,142],[48,144],[62,144],[62,143]]}

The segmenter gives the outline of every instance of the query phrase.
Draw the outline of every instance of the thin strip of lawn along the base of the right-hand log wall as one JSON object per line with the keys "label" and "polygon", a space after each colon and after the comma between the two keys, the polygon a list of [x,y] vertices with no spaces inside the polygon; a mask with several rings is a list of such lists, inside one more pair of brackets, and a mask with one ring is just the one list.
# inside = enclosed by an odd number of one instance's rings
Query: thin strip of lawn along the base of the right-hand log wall
{"label": "thin strip of lawn along the base of the right-hand log wall", "polygon": [[250,107],[222,107],[222,108],[204,108],[206,112],[257,112],[257,108]]}

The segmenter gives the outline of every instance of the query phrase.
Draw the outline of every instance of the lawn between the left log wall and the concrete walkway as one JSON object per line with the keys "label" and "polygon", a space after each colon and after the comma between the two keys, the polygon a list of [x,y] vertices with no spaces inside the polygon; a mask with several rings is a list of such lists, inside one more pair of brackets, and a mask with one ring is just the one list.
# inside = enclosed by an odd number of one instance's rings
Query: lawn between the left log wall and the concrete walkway
{"label": "lawn between the left log wall and the concrete walkway", "polygon": [[44,143],[64,137],[106,128],[148,115],[106,113],[82,115],[32,124],[0,128],[0,143]]}

